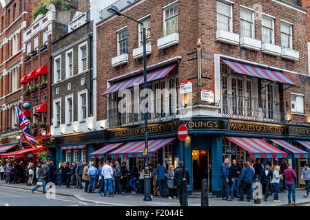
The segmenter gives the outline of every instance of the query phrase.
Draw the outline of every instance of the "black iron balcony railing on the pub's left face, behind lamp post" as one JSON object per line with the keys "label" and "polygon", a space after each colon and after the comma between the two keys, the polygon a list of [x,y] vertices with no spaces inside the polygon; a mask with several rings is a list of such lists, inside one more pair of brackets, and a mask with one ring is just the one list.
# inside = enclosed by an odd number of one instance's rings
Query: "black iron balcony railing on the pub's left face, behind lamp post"
{"label": "black iron balcony railing on the pub's left face, behind lamp post", "polygon": [[[161,122],[176,118],[178,114],[177,101],[177,96],[149,101],[149,113],[147,114],[148,122]],[[138,105],[131,104],[127,106],[124,113],[117,108],[110,109],[108,111],[109,120],[106,126],[112,128],[143,124],[145,114],[141,111],[141,105],[141,103]]]}

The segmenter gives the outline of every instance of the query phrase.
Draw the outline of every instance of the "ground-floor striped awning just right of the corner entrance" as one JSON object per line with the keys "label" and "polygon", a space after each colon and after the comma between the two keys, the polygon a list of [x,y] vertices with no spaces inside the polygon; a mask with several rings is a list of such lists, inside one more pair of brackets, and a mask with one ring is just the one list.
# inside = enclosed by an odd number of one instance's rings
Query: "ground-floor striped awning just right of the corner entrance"
{"label": "ground-floor striped awning just right of the corner entrance", "polygon": [[251,158],[286,158],[287,153],[280,151],[262,140],[262,138],[254,137],[226,137],[231,142],[234,142],[245,151],[249,152]]}

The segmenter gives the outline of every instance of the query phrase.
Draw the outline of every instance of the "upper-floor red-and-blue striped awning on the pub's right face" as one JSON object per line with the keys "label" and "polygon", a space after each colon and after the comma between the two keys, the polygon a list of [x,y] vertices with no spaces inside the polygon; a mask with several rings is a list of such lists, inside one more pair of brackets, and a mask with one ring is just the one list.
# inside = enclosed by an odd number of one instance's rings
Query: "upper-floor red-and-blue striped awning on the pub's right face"
{"label": "upper-floor red-and-blue striped awning on the pub's right face", "polygon": [[221,59],[226,65],[228,65],[234,72],[238,74],[244,74],[247,76],[254,76],[258,78],[264,78],[266,80],[271,80],[279,83],[287,83],[289,85],[296,85],[292,80],[287,78],[285,75],[278,71],[274,71],[271,69],[265,69],[261,67],[254,67],[251,65],[246,65],[242,63],[237,63],[234,61],[227,61]]}

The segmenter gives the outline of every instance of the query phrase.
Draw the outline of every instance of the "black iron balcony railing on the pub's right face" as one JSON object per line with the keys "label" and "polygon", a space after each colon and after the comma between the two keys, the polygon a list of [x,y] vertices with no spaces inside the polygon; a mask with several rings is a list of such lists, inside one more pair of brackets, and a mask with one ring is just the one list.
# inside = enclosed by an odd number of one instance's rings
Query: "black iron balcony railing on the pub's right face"
{"label": "black iron balcony railing on the pub's right face", "polygon": [[220,109],[223,117],[268,122],[284,122],[282,102],[223,94]]}

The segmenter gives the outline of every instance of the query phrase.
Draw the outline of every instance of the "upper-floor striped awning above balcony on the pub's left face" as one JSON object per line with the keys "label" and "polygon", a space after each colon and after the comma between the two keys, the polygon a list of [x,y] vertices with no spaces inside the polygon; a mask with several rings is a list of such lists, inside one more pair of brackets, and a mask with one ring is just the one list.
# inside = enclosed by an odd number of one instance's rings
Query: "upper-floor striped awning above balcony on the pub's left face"
{"label": "upper-floor striped awning above balcony on the pub's left face", "polygon": [[[169,74],[176,64],[168,65],[166,67],[161,67],[158,69],[153,70],[152,72],[147,73],[147,82],[151,82],[153,80],[158,80],[160,78],[164,78]],[[124,80],[120,80],[117,83],[114,83],[112,86],[110,86],[107,90],[103,92],[101,95],[105,94],[111,94],[115,91],[121,90],[121,89],[127,89],[130,87],[133,87],[136,84],[142,84],[144,83],[143,74],[140,74],[138,76],[133,76],[131,78],[126,78]]]}

